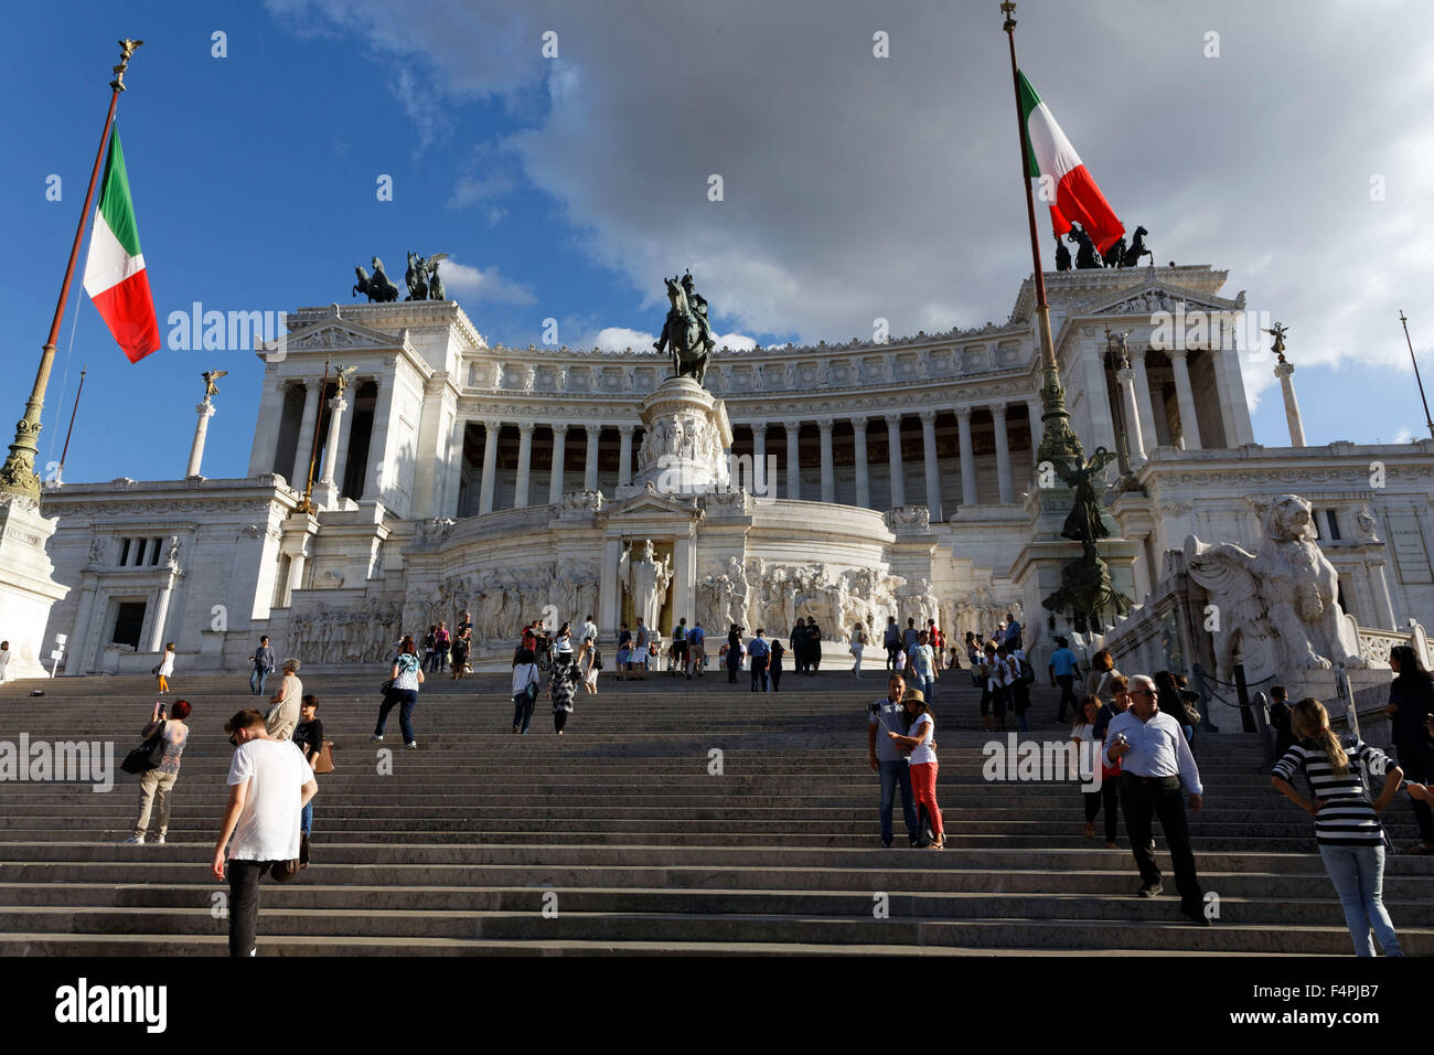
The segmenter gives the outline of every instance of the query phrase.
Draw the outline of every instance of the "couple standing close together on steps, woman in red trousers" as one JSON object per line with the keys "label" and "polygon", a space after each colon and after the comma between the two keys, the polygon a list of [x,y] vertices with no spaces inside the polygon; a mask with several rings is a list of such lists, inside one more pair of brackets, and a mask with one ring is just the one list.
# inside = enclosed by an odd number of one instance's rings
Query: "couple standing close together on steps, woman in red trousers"
{"label": "couple standing close together on steps, woman in red trousers", "polygon": [[[911,845],[944,850],[945,828],[941,807],[936,805],[936,719],[931,713],[925,693],[908,689],[906,679],[892,673],[886,680],[886,696],[869,708],[866,749],[872,771],[882,778],[882,845],[891,847],[892,805],[901,787],[902,814]],[[921,820],[931,822],[931,841]]]}

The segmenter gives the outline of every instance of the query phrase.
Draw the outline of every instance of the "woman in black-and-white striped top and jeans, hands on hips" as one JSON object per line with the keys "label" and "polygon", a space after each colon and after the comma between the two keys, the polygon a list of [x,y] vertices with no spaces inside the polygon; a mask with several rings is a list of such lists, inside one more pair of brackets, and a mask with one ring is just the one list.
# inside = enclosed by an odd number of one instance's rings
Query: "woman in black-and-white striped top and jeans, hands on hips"
{"label": "woman in black-and-white striped top and jeans, hands on hips", "polygon": [[[1275,764],[1271,782],[1295,805],[1315,817],[1315,841],[1325,871],[1339,893],[1357,956],[1374,956],[1369,929],[1385,956],[1402,956],[1390,913],[1384,909],[1384,828],[1380,812],[1400,789],[1404,771],[1362,741],[1348,751],[1329,729],[1329,715],[1316,699],[1302,699],[1291,715],[1298,742]],[[1372,804],[1359,768],[1384,774],[1384,788]],[[1291,782],[1304,769],[1312,798]]]}

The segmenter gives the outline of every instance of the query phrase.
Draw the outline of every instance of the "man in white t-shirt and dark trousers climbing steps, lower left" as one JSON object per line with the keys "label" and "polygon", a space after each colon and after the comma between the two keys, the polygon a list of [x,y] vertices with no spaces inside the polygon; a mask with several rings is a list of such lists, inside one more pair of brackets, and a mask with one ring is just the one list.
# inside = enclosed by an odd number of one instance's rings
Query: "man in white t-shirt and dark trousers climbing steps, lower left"
{"label": "man in white t-shirt and dark trousers climbing steps, lower left", "polygon": [[[211,871],[224,880],[228,868],[229,956],[254,956],[260,877],[298,857],[300,814],[318,782],[300,746],[271,736],[258,711],[241,711],[224,731],[235,752]],[[281,878],[278,868],[274,877]]]}

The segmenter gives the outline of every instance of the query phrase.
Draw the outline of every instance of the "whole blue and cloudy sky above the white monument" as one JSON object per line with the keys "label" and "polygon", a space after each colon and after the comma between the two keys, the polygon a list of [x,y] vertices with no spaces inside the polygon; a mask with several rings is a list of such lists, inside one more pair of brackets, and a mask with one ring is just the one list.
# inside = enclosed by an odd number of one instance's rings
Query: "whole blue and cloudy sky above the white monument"
{"label": "whole blue and cloudy sky above the white monument", "polygon": [[[898,334],[1007,316],[1030,267],[1004,36],[987,6],[632,3],[624,22],[599,7],[10,11],[26,46],[0,78],[30,102],[9,109],[0,171],[14,379],[3,418],[19,416],[49,329],[120,36],[146,42],[119,129],[162,332],[192,301],[351,303],[354,264],[377,254],[402,273],[409,248],[453,257],[450,296],[495,343],[541,343],[549,316],[569,344],[650,333],[661,274],[688,264],[733,340],[865,337],[875,314]],[[1093,9],[1032,0],[1022,66],[1127,225],[1153,231],[1162,263],[1228,267],[1229,296],[1246,289],[1252,309],[1289,324],[1309,442],[1423,435],[1397,311],[1434,380],[1427,251],[1408,237],[1428,230],[1420,165],[1434,144],[1407,121],[1434,95],[1430,14],[1258,7],[1117,3],[1084,17]],[[1394,39],[1380,29],[1391,22]],[[1200,55],[1206,26],[1222,32],[1215,63]],[[556,60],[539,55],[548,27]],[[885,66],[873,27],[892,36]],[[227,57],[211,55],[215,30]],[[704,42],[698,59],[668,46],[687,32]],[[1071,56],[1100,40],[1119,83],[1096,66],[1071,76],[1083,65]],[[710,171],[726,172],[723,207],[701,194]],[[59,202],[44,197],[52,174]],[[391,202],[376,197],[380,174]],[[1377,204],[1371,174],[1387,182]],[[67,479],[182,475],[198,375],[214,366],[229,376],[205,474],[244,472],[251,352],[163,350],[130,366],[76,280],[42,461],[59,456],[82,365]],[[1279,445],[1278,390],[1269,365],[1256,369],[1256,439]]]}

